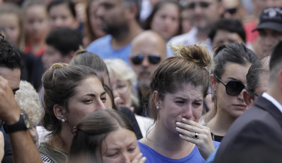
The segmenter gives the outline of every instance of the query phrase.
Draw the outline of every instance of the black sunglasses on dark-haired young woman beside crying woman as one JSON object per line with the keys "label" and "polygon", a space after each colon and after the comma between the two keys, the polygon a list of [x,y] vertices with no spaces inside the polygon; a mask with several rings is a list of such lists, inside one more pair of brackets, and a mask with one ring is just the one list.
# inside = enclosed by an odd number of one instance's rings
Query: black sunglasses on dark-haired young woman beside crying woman
{"label": "black sunglasses on dark-haired young woman beside crying woman", "polygon": [[230,80],[229,82],[225,84],[216,75],[214,75],[214,77],[216,77],[216,79],[218,79],[219,82],[221,82],[225,86],[226,93],[230,96],[237,96],[245,88],[242,82],[238,80]]}

